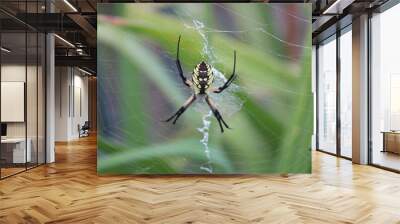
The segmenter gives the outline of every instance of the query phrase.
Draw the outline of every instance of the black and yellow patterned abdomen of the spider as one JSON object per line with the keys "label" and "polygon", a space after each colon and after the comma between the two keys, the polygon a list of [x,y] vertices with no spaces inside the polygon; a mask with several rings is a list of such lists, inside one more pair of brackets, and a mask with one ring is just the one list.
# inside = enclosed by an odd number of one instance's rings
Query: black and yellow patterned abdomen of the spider
{"label": "black and yellow patterned abdomen of the spider", "polygon": [[202,61],[194,68],[192,80],[194,87],[197,90],[196,92],[199,94],[205,94],[206,90],[211,86],[214,80],[211,66]]}

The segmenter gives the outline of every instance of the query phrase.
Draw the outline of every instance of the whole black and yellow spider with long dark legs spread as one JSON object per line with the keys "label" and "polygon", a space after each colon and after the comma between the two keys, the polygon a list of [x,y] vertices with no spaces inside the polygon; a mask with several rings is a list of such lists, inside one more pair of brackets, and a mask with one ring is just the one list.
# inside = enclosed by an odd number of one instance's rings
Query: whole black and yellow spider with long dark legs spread
{"label": "whole black and yellow spider with long dark legs spread", "polygon": [[186,102],[179,108],[179,110],[173,114],[170,118],[165,120],[165,122],[169,122],[173,119],[173,124],[176,123],[178,118],[185,112],[185,110],[192,105],[192,103],[197,99],[197,97],[204,98],[205,101],[207,102],[208,106],[210,107],[211,111],[213,112],[215,118],[217,119],[219,123],[219,127],[221,128],[221,132],[224,132],[224,127],[223,125],[230,129],[230,127],[226,124],[224,119],[222,118],[220,112],[218,111],[217,107],[215,106],[215,103],[210,99],[208,96],[209,92],[213,93],[221,93],[224,91],[226,88],[229,87],[230,84],[235,80],[237,75],[235,74],[235,68],[236,68],[236,51],[233,51],[233,72],[232,75],[229,77],[229,79],[225,82],[224,85],[218,88],[211,87],[211,84],[214,81],[214,74],[212,71],[212,67],[207,64],[206,62],[202,61],[199,64],[196,65],[196,67],[193,70],[192,73],[192,79],[189,80],[183,75],[183,70],[181,66],[181,62],[179,60],[179,44],[181,42],[181,35],[179,35],[178,38],[178,46],[177,46],[177,51],[176,51],[176,66],[178,67],[179,71],[179,76],[181,77],[183,83],[189,87],[192,88],[193,94],[189,97],[189,99],[186,100]]}

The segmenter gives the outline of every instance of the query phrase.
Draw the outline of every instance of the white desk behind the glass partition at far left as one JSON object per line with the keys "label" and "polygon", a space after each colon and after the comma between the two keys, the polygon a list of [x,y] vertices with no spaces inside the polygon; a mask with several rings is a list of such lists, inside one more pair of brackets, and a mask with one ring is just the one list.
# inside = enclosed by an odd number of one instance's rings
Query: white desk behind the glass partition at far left
{"label": "white desk behind the glass partition at far left", "polygon": [[[32,153],[31,153],[31,145],[32,141],[30,138],[26,140],[28,143],[28,147],[26,147],[25,154],[25,138],[5,138],[1,139],[1,144],[6,145],[6,147],[12,146],[13,148],[13,163],[25,163],[31,162]],[[4,146],[3,146],[4,147]],[[25,161],[26,159],[26,161]]]}

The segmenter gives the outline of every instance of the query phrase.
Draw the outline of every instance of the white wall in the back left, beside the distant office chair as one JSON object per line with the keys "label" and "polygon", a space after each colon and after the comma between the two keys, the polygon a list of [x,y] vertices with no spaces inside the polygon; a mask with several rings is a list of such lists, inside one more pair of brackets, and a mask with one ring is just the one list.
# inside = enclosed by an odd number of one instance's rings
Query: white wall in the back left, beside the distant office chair
{"label": "white wall in the back left, beside the distant office chair", "polygon": [[56,67],[55,88],[55,140],[77,139],[78,124],[88,120],[88,77],[76,68]]}

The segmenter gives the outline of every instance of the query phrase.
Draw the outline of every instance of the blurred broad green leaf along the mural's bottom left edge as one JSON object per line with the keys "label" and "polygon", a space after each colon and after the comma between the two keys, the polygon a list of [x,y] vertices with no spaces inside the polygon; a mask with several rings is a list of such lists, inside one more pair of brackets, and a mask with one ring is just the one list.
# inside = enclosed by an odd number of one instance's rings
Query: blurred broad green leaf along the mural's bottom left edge
{"label": "blurred broad green leaf along the mural's bottom left edge", "polygon": [[[105,147],[114,148],[117,146],[102,142],[99,145],[99,150],[116,150],[105,149]],[[216,172],[230,173],[233,171],[229,160],[225,158],[223,153],[217,149],[210,150],[212,150],[212,165]],[[107,154],[98,160],[97,171],[100,174],[120,173],[121,169],[136,174],[152,172],[158,174],[190,173],[190,170],[185,171],[185,165],[190,166],[191,163],[201,165],[207,162],[202,145],[196,139],[178,140],[134,149],[125,148],[118,151],[119,153]],[[180,159],[184,159],[184,163],[180,163]],[[202,172],[202,170],[198,168],[198,172]]]}

